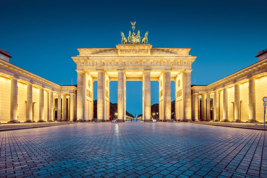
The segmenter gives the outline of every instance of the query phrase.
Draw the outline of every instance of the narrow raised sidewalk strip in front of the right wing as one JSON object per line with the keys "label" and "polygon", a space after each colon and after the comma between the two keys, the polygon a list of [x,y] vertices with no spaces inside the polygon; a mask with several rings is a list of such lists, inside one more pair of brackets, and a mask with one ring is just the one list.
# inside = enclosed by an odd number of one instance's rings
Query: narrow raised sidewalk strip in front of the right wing
{"label": "narrow raised sidewalk strip in front of the right wing", "polygon": [[265,129],[264,129],[263,123],[247,123],[247,122],[236,123],[236,122],[214,122],[214,121],[199,121],[199,122],[194,122],[194,123],[204,124],[204,125],[222,126],[222,127],[267,130],[267,123],[265,123]]}

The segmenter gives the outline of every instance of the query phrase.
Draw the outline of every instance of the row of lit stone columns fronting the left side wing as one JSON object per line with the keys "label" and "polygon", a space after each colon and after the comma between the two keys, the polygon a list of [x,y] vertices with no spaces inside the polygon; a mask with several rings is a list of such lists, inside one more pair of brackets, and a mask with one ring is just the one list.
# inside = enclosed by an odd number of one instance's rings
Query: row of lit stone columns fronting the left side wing
{"label": "row of lit stone columns fronting the left side wing", "polygon": [[[57,93],[58,104],[55,105],[54,102],[54,92],[49,89],[44,89],[42,86],[38,86],[39,88],[39,120],[38,122],[46,122],[46,121],[55,121],[55,110],[57,110],[57,121],[74,121],[75,118],[75,93],[69,93],[69,103],[67,105],[67,95]],[[45,97],[44,91],[48,91],[48,118],[45,118]],[[15,77],[11,78],[11,113],[10,113],[10,123],[18,123],[18,79]],[[61,99],[63,103],[61,103]],[[33,118],[34,110],[33,106],[35,102],[33,102],[33,84],[27,82],[27,101],[26,102],[26,121],[25,122],[35,122]],[[55,108],[54,108],[55,107]],[[68,109],[67,109],[68,107]],[[67,110],[68,110],[68,118],[67,118]]]}

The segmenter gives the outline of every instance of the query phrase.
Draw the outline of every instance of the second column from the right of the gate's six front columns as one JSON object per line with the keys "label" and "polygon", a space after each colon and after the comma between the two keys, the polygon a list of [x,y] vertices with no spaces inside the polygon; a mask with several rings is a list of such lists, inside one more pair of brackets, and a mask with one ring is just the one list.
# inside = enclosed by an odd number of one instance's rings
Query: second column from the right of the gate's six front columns
{"label": "second column from the right of the gate's six front columns", "polygon": [[[149,79],[149,81],[150,81],[150,79]],[[165,120],[171,121],[171,73],[170,72],[165,72],[164,84],[165,84],[164,85]]]}

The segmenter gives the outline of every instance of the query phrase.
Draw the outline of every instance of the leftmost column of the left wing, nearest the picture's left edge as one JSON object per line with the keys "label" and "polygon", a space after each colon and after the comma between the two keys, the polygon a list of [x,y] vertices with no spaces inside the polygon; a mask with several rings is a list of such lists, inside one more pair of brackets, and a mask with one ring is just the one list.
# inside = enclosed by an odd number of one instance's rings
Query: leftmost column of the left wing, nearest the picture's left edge
{"label": "leftmost column of the left wing, nearest the picture's left edge", "polygon": [[18,80],[11,79],[11,105],[10,105],[10,121],[12,123],[18,123]]}

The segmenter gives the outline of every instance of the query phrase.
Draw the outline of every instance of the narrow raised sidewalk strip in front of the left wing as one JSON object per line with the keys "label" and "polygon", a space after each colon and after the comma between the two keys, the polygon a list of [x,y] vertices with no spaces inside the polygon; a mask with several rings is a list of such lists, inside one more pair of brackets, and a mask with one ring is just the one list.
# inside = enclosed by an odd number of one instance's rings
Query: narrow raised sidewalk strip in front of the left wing
{"label": "narrow raised sidewalk strip in front of the left wing", "polygon": [[35,122],[35,123],[1,123],[0,131],[19,130],[27,128],[39,128],[50,127],[56,125],[72,124],[73,122],[61,121],[61,122]]}

